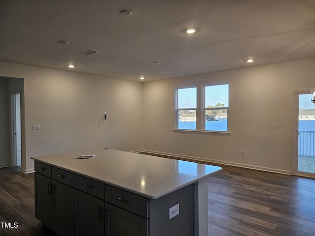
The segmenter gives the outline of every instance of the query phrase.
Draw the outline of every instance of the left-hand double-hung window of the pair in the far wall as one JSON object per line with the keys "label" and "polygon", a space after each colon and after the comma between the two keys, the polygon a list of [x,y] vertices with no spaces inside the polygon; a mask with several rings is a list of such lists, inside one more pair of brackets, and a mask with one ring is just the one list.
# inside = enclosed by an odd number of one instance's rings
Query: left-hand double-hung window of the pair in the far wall
{"label": "left-hand double-hung window of the pair in the far wall", "polygon": [[197,88],[177,89],[177,128],[196,130],[196,110]]}

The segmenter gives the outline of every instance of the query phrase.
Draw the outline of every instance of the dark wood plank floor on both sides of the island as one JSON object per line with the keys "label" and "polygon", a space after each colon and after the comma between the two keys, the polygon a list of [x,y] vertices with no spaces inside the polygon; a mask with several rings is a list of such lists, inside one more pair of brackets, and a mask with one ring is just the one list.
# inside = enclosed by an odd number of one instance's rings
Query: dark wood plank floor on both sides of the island
{"label": "dark wood plank floor on both sides of the island", "polygon": [[[34,218],[33,174],[0,169],[0,236],[55,236]],[[209,236],[315,236],[315,179],[223,166],[208,185]]]}

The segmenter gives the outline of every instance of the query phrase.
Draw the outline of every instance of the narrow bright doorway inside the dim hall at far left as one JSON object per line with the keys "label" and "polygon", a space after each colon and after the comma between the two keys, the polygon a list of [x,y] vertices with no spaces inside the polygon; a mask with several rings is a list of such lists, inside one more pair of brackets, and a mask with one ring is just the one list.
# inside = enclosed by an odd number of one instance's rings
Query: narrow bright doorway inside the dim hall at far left
{"label": "narrow bright doorway inside the dim hall at far left", "polygon": [[21,92],[11,93],[12,166],[22,168],[21,153]]}

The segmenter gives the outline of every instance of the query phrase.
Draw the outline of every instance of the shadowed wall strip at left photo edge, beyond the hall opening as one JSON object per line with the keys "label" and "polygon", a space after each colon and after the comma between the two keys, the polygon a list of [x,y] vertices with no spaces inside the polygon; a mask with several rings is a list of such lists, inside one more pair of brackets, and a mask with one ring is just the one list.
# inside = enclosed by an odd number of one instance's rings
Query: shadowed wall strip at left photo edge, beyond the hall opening
{"label": "shadowed wall strip at left photo edge, beyond the hall opening", "polygon": [[0,78],[0,167],[9,166],[9,82]]}

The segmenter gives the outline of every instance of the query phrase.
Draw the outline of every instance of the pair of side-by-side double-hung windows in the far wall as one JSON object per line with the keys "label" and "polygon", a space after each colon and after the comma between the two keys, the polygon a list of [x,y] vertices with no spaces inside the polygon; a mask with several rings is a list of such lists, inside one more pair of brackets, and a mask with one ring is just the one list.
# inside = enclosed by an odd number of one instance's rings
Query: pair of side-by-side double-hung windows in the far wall
{"label": "pair of side-by-side double-hung windows in the far wall", "polygon": [[228,84],[177,88],[175,97],[176,129],[227,132]]}

